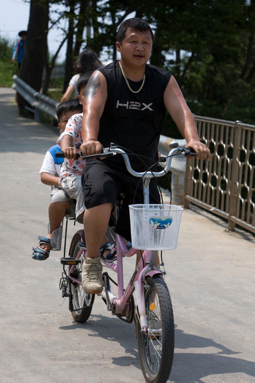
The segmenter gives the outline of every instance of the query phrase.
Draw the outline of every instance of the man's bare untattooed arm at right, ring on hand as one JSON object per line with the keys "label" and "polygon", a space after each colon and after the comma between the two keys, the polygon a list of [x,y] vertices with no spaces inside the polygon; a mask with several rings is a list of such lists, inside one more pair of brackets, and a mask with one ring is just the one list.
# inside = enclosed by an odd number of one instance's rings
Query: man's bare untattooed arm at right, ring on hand
{"label": "man's bare untattooed arm at right, ring on hand", "polygon": [[192,147],[196,151],[197,159],[209,161],[211,152],[206,145],[200,142],[194,117],[173,76],[171,76],[164,92],[164,104],[177,128],[186,139],[187,147]]}

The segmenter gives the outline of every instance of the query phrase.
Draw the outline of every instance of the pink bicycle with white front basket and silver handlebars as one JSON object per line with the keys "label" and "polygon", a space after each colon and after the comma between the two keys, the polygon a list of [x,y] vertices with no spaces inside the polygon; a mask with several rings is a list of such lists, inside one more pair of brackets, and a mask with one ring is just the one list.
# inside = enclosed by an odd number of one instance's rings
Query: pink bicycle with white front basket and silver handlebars
{"label": "pink bicycle with white front basket and silver handlebars", "polygon": [[[174,205],[150,205],[149,182],[152,177],[161,177],[170,169],[173,155],[195,155],[192,149],[169,145],[171,151],[166,160],[165,170],[146,173],[135,172],[126,152],[111,145],[104,149],[103,155],[121,154],[129,173],[142,177],[144,204],[130,205],[132,246],[127,249],[123,237],[116,234],[117,261],[102,262],[117,273],[118,284],[107,272],[103,273],[104,290],[101,294],[107,310],[119,319],[132,323],[135,321],[136,337],[142,372],[148,383],[165,383],[171,372],[174,354],[173,308],[167,285],[164,281],[163,264],[155,266],[158,250],[175,249],[182,208]],[[88,157],[101,157],[102,154]],[[87,158],[88,158],[87,157]],[[118,208],[116,210],[118,212]],[[116,217],[118,219],[118,216]],[[113,232],[111,232],[113,234]],[[78,242],[82,230],[75,233],[69,248],[68,257],[61,259],[64,272],[60,280],[62,296],[69,297],[69,310],[77,322],[85,322],[92,311],[95,295],[82,289],[82,264],[86,250],[80,249]],[[115,239],[115,235],[114,235]],[[124,290],[123,257],[132,257],[137,250],[145,250],[131,279]],[[162,259],[162,258],[161,258]],[[118,297],[111,293],[110,281],[118,286]],[[136,292],[135,304],[133,292]]]}

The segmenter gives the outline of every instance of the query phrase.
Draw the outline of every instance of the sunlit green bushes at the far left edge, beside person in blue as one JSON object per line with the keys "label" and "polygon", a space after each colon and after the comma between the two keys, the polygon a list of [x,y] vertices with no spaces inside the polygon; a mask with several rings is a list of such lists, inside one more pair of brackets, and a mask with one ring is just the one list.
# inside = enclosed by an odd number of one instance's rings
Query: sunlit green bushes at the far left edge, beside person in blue
{"label": "sunlit green bushes at the far left edge, beside person in blue", "polygon": [[14,42],[0,36],[0,87],[11,87],[12,76],[18,73],[18,64],[11,62]]}

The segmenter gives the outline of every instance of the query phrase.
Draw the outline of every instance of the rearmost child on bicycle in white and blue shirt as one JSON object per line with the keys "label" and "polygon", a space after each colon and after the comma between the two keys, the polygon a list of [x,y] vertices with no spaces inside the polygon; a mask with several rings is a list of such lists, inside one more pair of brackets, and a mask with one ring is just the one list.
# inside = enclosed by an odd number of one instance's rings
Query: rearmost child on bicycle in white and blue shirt
{"label": "rearmost child on bicycle in white and blue shirt", "polygon": [[[64,101],[57,106],[56,114],[59,119],[60,133],[64,132],[69,118],[81,111],[82,105],[78,98],[77,100]],[[64,159],[56,158],[56,152],[59,152],[59,145],[54,145],[47,151],[39,172],[39,174],[41,174],[41,182],[45,183],[45,185],[55,186],[55,188],[51,191],[51,203],[49,205],[50,232],[46,237],[38,237],[40,242],[36,249],[33,247],[32,254],[32,258],[36,260],[45,260],[49,257],[51,234],[59,228],[65,213],[70,208],[70,197],[66,191],[61,188],[59,182]]]}

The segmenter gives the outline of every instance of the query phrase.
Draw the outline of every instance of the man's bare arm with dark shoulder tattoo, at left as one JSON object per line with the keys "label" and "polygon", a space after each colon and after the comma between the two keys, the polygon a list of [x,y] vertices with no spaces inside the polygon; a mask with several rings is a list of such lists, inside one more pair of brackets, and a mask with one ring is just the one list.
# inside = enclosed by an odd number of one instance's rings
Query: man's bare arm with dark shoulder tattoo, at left
{"label": "man's bare arm with dark shoulder tattoo, at left", "polygon": [[103,146],[97,141],[99,121],[107,98],[107,83],[101,72],[96,70],[88,80],[84,92],[82,141],[83,155],[101,153]]}

